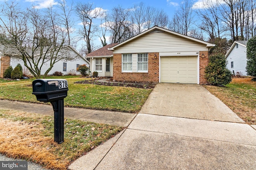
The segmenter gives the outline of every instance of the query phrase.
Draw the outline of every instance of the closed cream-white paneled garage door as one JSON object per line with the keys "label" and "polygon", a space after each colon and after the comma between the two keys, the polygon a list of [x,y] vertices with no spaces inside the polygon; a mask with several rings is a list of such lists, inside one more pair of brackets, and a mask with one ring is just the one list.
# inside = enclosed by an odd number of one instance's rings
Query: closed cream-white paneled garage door
{"label": "closed cream-white paneled garage door", "polygon": [[197,56],[161,57],[160,82],[197,83]]}

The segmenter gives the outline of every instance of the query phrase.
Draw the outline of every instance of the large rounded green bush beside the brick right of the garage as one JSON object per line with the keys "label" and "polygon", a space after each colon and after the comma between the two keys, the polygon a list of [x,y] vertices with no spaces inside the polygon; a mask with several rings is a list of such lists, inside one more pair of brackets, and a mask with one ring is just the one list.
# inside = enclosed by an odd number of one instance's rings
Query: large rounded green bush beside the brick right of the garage
{"label": "large rounded green bush beside the brick right of the garage", "polygon": [[225,55],[216,54],[209,57],[205,78],[212,85],[226,85],[231,82],[232,73],[226,68]]}

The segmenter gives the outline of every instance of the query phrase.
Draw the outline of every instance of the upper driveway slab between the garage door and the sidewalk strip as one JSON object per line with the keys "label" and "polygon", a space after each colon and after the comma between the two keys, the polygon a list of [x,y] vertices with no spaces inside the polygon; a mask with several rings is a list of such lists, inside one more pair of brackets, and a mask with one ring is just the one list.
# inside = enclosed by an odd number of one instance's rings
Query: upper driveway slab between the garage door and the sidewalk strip
{"label": "upper driveway slab between the garage door and the sidewalk strip", "polygon": [[159,83],[140,113],[244,123],[201,85]]}

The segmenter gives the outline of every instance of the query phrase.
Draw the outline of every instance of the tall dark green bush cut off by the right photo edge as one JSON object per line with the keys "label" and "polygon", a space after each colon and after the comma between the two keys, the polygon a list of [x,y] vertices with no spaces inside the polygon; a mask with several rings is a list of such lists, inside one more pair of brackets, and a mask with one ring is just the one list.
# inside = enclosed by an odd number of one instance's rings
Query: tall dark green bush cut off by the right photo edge
{"label": "tall dark green bush cut off by the right photo edge", "polygon": [[[256,77],[256,36],[249,39],[247,42],[246,57],[248,59],[246,65],[247,75]],[[255,78],[253,80],[255,80]]]}

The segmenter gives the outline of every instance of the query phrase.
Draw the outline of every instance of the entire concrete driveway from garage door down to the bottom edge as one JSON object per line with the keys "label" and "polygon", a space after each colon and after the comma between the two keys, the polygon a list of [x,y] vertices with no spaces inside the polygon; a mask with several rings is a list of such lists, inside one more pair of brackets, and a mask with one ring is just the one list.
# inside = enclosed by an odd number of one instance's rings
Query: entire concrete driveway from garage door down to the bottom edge
{"label": "entire concrete driveway from garage door down to the bottom edge", "polygon": [[127,129],[69,168],[255,169],[256,130],[200,85],[156,85]]}

